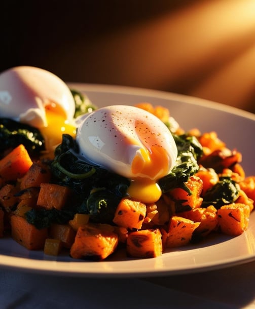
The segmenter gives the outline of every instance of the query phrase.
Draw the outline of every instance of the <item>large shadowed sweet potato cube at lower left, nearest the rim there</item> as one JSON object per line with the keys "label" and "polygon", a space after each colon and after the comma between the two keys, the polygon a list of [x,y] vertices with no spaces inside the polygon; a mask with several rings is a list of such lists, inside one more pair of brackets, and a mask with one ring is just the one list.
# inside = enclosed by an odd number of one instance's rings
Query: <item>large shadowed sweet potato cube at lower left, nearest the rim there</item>
{"label": "large shadowed sweet potato cube at lower left, nearest the rim there", "polygon": [[42,250],[48,236],[48,229],[38,229],[23,217],[11,216],[12,238],[28,250]]}

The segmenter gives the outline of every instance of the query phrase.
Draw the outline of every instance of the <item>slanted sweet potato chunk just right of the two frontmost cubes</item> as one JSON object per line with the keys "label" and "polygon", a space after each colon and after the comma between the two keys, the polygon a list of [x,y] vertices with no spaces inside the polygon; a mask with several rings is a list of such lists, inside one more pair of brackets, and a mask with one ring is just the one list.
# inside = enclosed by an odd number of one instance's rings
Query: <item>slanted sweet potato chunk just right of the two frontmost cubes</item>
{"label": "slanted sweet potato chunk just right of the two frontmost cubes", "polygon": [[174,248],[188,245],[193,231],[200,225],[200,222],[173,216],[170,219],[168,237],[166,241],[167,248]]}

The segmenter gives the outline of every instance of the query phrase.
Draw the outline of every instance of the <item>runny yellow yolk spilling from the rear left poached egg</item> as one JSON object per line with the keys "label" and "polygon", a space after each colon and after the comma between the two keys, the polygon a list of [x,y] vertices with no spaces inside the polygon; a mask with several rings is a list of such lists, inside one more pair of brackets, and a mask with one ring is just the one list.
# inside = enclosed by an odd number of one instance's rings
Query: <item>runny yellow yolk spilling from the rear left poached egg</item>
{"label": "runny yellow yolk spilling from the rear left poached egg", "polygon": [[40,128],[45,139],[46,151],[52,153],[62,141],[62,134],[76,136],[76,127],[66,119],[64,109],[54,102],[45,106],[47,126]]}

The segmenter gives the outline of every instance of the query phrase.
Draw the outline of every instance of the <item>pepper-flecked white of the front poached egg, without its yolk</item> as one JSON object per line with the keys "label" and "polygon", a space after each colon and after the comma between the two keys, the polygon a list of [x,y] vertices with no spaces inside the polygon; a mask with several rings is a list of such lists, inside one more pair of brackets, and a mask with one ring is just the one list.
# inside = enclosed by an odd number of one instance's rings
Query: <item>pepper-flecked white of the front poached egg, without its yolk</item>
{"label": "pepper-flecked white of the front poached egg, without its yolk", "polygon": [[81,157],[130,179],[162,177],[160,170],[153,176],[132,172],[132,162],[135,156],[142,157],[142,149],[149,150],[149,155],[155,144],[165,149],[166,174],[177,157],[169,129],[153,114],[134,106],[107,106],[86,115],[78,128],[77,141]]}

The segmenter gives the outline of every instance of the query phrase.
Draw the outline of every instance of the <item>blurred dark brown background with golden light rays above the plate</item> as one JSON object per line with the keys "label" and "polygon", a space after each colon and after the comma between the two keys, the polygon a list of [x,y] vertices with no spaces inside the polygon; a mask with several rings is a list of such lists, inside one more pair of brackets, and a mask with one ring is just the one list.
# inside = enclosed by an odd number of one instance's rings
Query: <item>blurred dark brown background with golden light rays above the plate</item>
{"label": "blurred dark brown background with golden light rays above the plate", "polygon": [[165,90],[255,112],[254,0],[1,6],[1,71],[33,65],[65,82]]}

